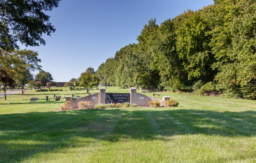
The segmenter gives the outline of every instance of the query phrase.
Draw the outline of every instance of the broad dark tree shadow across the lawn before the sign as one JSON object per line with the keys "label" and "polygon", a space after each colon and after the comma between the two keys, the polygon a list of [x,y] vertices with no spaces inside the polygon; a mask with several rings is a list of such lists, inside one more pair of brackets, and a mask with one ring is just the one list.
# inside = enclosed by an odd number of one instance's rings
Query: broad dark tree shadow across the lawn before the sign
{"label": "broad dark tree shadow across the lawn before the sign", "polygon": [[[0,115],[0,162],[15,162],[40,152],[84,147],[93,139],[165,139],[206,134],[256,136],[256,112],[208,110],[87,109]],[[90,141],[90,142],[86,142]]]}

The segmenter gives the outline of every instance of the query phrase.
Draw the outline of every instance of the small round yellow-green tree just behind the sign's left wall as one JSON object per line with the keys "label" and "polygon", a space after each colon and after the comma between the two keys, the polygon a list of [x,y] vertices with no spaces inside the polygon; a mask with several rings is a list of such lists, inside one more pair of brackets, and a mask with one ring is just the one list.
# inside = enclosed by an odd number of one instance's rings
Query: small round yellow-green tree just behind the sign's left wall
{"label": "small round yellow-green tree just behind the sign's left wall", "polygon": [[89,93],[91,88],[99,85],[99,77],[96,74],[90,74],[90,72],[83,72],[79,77],[80,86],[84,87]]}

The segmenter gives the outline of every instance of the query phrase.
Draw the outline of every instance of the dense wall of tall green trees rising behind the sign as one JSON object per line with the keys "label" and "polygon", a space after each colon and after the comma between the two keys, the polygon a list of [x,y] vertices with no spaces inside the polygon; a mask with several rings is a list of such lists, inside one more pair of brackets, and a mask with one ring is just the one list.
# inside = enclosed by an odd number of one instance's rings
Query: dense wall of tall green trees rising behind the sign
{"label": "dense wall of tall green trees rising behind the sign", "polygon": [[214,0],[161,25],[102,63],[103,85],[256,99],[255,0]]}

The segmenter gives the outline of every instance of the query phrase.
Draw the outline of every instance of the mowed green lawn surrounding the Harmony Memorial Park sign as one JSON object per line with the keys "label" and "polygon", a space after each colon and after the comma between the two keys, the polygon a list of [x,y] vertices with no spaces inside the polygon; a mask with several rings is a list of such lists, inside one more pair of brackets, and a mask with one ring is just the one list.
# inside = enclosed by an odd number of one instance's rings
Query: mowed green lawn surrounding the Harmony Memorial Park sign
{"label": "mowed green lawn surrounding the Harmony Memorial Park sign", "polygon": [[1,163],[256,162],[254,100],[159,92],[179,107],[56,111],[65,100],[53,101],[54,93],[85,96],[33,90],[0,98]]}

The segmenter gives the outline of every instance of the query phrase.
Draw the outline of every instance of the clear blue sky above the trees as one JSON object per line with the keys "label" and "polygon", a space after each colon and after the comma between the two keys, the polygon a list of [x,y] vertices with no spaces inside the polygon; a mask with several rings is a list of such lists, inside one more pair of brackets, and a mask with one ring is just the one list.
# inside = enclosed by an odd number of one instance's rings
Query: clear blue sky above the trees
{"label": "clear blue sky above the trees", "polygon": [[137,37],[151,18],[160,26],[187,9],[195,11],[213,3],[213,0],[62,0],[59,7],[47,11],[56,31],[51,36],[42,36],[46,45],[19,46],[37,51],[42,70],[50,72],[55,82],[68,82],[79,78],[88,67],[96,71],[122,47],[138,43]]}

